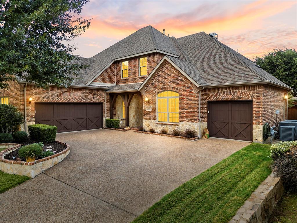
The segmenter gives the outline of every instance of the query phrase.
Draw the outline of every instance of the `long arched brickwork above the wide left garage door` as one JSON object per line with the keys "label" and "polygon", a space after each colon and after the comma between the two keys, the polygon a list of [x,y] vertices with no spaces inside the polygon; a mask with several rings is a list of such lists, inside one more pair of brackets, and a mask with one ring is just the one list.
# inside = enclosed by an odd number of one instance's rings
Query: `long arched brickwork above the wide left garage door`
{"label": "long arched brickwork above the wide left garage door", "polygon": [[64,92],[33,98],[34,102],[103,102],[103,98],[82,93]]}

